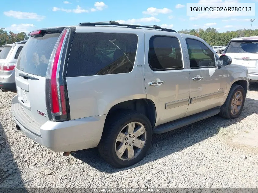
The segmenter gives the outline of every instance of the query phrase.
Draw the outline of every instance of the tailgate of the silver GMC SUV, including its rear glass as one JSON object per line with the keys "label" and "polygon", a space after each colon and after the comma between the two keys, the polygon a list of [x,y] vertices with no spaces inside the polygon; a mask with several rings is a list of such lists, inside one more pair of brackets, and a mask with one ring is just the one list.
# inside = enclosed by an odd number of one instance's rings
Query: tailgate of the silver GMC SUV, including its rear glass
{"label": "tailgate of the silver GMC SUV, including its rear glass", "polygon": [[[44,124],[48,119],[45,102],[45,76],[49,59],[60,33],[31,37],[20,52],[15,77],[19,103],[32,120]],[[31,76],[29,78],[24,75]],[[39,112],[45,114],[39,114]]]}

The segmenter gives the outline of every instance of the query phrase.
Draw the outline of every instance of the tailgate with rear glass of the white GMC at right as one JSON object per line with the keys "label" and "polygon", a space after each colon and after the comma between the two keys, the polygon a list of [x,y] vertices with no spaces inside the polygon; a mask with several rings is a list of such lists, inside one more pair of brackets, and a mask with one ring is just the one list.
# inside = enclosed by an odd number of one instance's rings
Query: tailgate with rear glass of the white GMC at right
{"label": "tailgate with rear glass of the white GMC at right", "polygon": [[232,64],[246,66],[252,71],[258,64],[258,40],[231,41],[225,54],[232,58]]}

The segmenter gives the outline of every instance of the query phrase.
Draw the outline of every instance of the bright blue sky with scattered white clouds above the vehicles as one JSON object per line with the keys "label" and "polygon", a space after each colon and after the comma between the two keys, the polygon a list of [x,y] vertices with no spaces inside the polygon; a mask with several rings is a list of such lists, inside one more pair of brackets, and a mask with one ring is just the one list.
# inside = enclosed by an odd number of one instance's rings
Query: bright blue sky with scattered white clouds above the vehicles
{"label": "bright blue sky with scattered white clouds above the vehicles", "polygon": [[[158,25],[176,31],[214,27],[219,32],[258,28],[256,16],[187,16],[186,3],[256,3],[258,0],[20,0],[1,1],[0,27],[15,33],[81,22],[114,20],[119,23]],[[258,7],[256,8],[258,10]],[[258,13],[258,12],[257,12]]]}

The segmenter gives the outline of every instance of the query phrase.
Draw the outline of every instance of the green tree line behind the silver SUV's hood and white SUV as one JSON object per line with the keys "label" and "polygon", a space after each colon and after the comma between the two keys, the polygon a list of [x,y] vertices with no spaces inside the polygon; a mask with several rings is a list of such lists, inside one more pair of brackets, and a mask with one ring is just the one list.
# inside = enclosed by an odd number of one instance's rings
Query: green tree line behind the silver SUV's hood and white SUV
{"label": "green tree line behind the silver SUV's hood and white SUV", "polygon": [[[232,38],[250,36],[250,30],[246,29],[220,33],[213,27],[209,27],[206,30],[199,28],[196,30],[180,30],[177,32],[198,36],[206,41],[210,46],[226,46]],[[258,29],[251,30],[251,36],[258,36]]]}

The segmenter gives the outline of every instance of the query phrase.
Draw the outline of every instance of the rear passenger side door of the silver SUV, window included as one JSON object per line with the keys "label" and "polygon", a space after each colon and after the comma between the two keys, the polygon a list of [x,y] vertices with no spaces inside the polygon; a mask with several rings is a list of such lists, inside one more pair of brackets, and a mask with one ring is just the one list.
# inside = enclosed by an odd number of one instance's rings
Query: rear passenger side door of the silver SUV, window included
{"label": "rear passenger side door of the silver SUV, window included", "polygon": [[[156,31],[155,31],[156,32]],[[156,124],[184,117],[189,104],[189,69],[180,34],[145,34],[144,78],[147,98],[156,107]]]}

